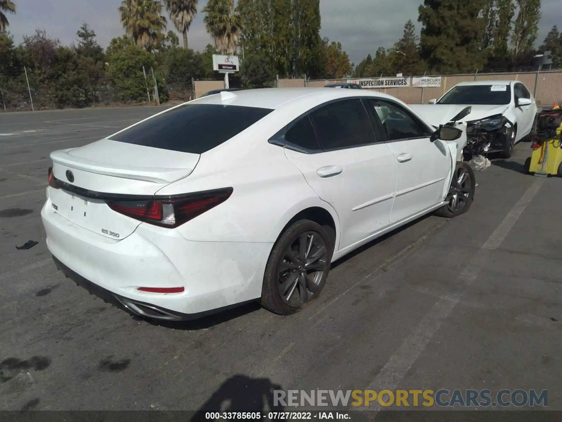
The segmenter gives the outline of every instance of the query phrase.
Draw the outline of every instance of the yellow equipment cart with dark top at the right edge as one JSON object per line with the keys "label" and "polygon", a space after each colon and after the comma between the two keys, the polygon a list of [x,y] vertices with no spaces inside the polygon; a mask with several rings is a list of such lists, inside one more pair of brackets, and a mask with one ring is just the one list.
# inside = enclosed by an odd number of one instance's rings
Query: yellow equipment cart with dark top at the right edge
{"label": "yellow equipment cart with dark top at the right edge", "polygon": [[538,114],[531,145],[533,154],[525,161],[525,173],[562,177],[561,132],[562,110],[558,106]]}

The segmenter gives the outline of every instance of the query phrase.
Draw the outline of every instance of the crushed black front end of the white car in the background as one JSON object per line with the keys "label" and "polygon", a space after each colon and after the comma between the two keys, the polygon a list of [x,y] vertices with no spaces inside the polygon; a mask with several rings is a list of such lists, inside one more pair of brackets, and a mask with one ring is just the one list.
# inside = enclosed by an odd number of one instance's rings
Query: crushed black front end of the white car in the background
{"label": "crushed black front end of the white car in the background", "polygon": [[475,155],[505,150],[508,141],[507,133],[511,127],[513,123],[501,114],[466,122],[465,158],[470,160]]}

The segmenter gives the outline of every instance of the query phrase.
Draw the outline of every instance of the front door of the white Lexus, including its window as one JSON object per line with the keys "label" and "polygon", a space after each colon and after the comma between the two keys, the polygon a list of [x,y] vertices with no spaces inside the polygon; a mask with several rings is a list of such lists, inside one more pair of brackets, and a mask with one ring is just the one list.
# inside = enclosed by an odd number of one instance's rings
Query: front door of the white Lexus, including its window
{"label": "front door of the white Lexus, including its window", "polygon": [[440,203],[451,168],[446,143],[431,142],[432,129],[397,102],[370,100],[368,104],[397,165],[391,223]]}

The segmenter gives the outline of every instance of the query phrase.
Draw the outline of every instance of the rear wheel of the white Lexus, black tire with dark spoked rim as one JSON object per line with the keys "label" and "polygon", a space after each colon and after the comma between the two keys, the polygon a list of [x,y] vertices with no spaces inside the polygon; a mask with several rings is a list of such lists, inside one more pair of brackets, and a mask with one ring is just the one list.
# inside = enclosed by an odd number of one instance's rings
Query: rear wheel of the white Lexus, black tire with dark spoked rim
{"label": "rear wheel of the white Lexus, black tire with dark spoked rim", "polygon": [[261,306],[278,315],[291,315],[316,299],[330,272],[335,239],[332,227],[311,220],[289,226],[273,246],[265,266]]}

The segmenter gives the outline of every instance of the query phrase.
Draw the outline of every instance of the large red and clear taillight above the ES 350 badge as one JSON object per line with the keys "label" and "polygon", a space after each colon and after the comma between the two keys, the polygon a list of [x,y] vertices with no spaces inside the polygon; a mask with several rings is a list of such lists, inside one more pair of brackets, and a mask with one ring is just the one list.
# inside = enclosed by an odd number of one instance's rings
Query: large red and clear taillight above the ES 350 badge
{"label": "large red and clear taillight above the ES 350 badge", "polygon": [[156,226],[174,228],[226,201],[232,187],[148,201],[107,201],[114,211]]}

